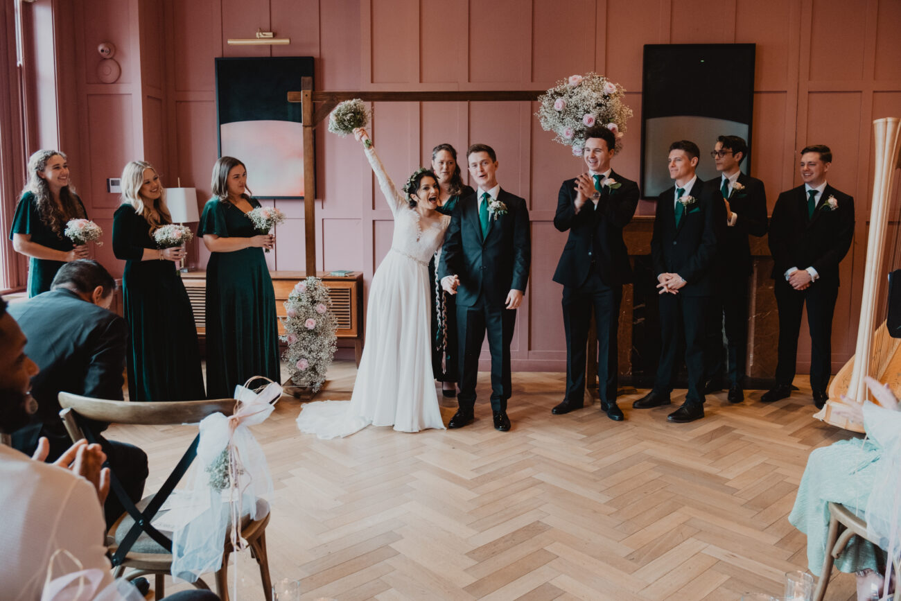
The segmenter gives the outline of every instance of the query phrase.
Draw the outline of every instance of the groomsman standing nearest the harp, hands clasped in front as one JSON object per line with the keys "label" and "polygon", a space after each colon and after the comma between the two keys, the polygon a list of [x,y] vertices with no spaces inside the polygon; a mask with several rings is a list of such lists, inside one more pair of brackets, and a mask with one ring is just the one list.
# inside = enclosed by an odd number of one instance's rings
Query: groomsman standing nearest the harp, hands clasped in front
{"label": "groomsman standing nearest the harp, hands clasped in front", "polygon": [[832,333],[839,295],[839,263],[854,236],[854,199],[826,183],[833,162],[828,146],[801,150],[798,186],[779,195],[769,221],[773,255],[773,292],[779,311],[776,387],[760,397],[764,403],[791,394],[795,379],[797,336],[807,305],[810,327],[810,387],[814,404],[823,408],[832,374]]}

